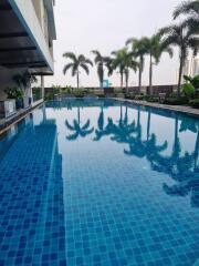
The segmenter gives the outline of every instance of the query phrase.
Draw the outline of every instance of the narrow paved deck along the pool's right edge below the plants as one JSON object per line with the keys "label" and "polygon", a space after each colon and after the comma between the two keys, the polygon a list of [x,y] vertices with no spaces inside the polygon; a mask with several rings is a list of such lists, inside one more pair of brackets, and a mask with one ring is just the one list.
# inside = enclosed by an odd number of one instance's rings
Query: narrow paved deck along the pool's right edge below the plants
{"label": "narrow paved deck along the pool's right edge below the plants", "polygon": [[144,106],[149,106],[149,108],[155,108],[155,109],[161,109],[161,110],[167,110],[167,111],[185,113],[187,115],[199,117],[199,109],[192,109],[192,108],[186,106],[186,105],[169,105],[169,104],[161,104],[161,103],[150,103],[150,102],[146,102],[146,101],[136,101],[136,100],[129,100],[129,99],[124,99],[124,98],[114,98],[114,100],[139,104],[139,105],[144,105]]}

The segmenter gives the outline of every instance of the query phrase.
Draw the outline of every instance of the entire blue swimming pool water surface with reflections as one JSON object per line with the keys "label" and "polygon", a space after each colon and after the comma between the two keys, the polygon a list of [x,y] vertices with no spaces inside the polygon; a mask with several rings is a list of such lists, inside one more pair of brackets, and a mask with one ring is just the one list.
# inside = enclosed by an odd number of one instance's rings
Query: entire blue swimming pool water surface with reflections
{"label": "entire blue swimming pool water surface with reflections", "polygon": [[0,139],[0,266],[192,266],[199,120],[63,100]]}

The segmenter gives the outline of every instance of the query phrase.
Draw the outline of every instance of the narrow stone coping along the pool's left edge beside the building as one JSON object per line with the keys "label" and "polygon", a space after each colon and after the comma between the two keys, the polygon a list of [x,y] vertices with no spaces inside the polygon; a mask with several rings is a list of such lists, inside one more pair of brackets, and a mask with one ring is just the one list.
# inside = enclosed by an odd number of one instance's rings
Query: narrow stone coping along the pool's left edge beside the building
{"label": "narrow stone coping along the pool's left edge beside the building", "polygon": [[34,109],[39,108],[43,103],[44,100],[41,99],[34,102],[30,108],[20,110],[17,114],[10,116],[9,119],[6,119],[4,122],[0,125],[0,136],[4,134],[7,131],[9,131],[10,127],[12,127],[14,124],[19,123],[21,120],[27,117],[28,114],[30,114]]}

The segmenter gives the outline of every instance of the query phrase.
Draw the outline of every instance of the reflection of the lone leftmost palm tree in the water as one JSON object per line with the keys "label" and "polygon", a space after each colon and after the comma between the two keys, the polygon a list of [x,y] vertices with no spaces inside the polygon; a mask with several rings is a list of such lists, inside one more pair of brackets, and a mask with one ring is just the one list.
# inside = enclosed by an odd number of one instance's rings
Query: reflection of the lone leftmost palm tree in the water
{"label": "reflection of the lone leftmost palm tree in the water", "polygon": [[94,131],[94,127],[91,127],[90,120],[87,120],[85,124],[81,125],[80,106],[77,108],[77,120],[73,121],[73,125],[71,125],[66,120],[65,125],[70,131],[74,132],[74,134],[66,136],[69,141],[75,141],[78,139],[78,136],[85,137],[86,135],[92,134]]}

